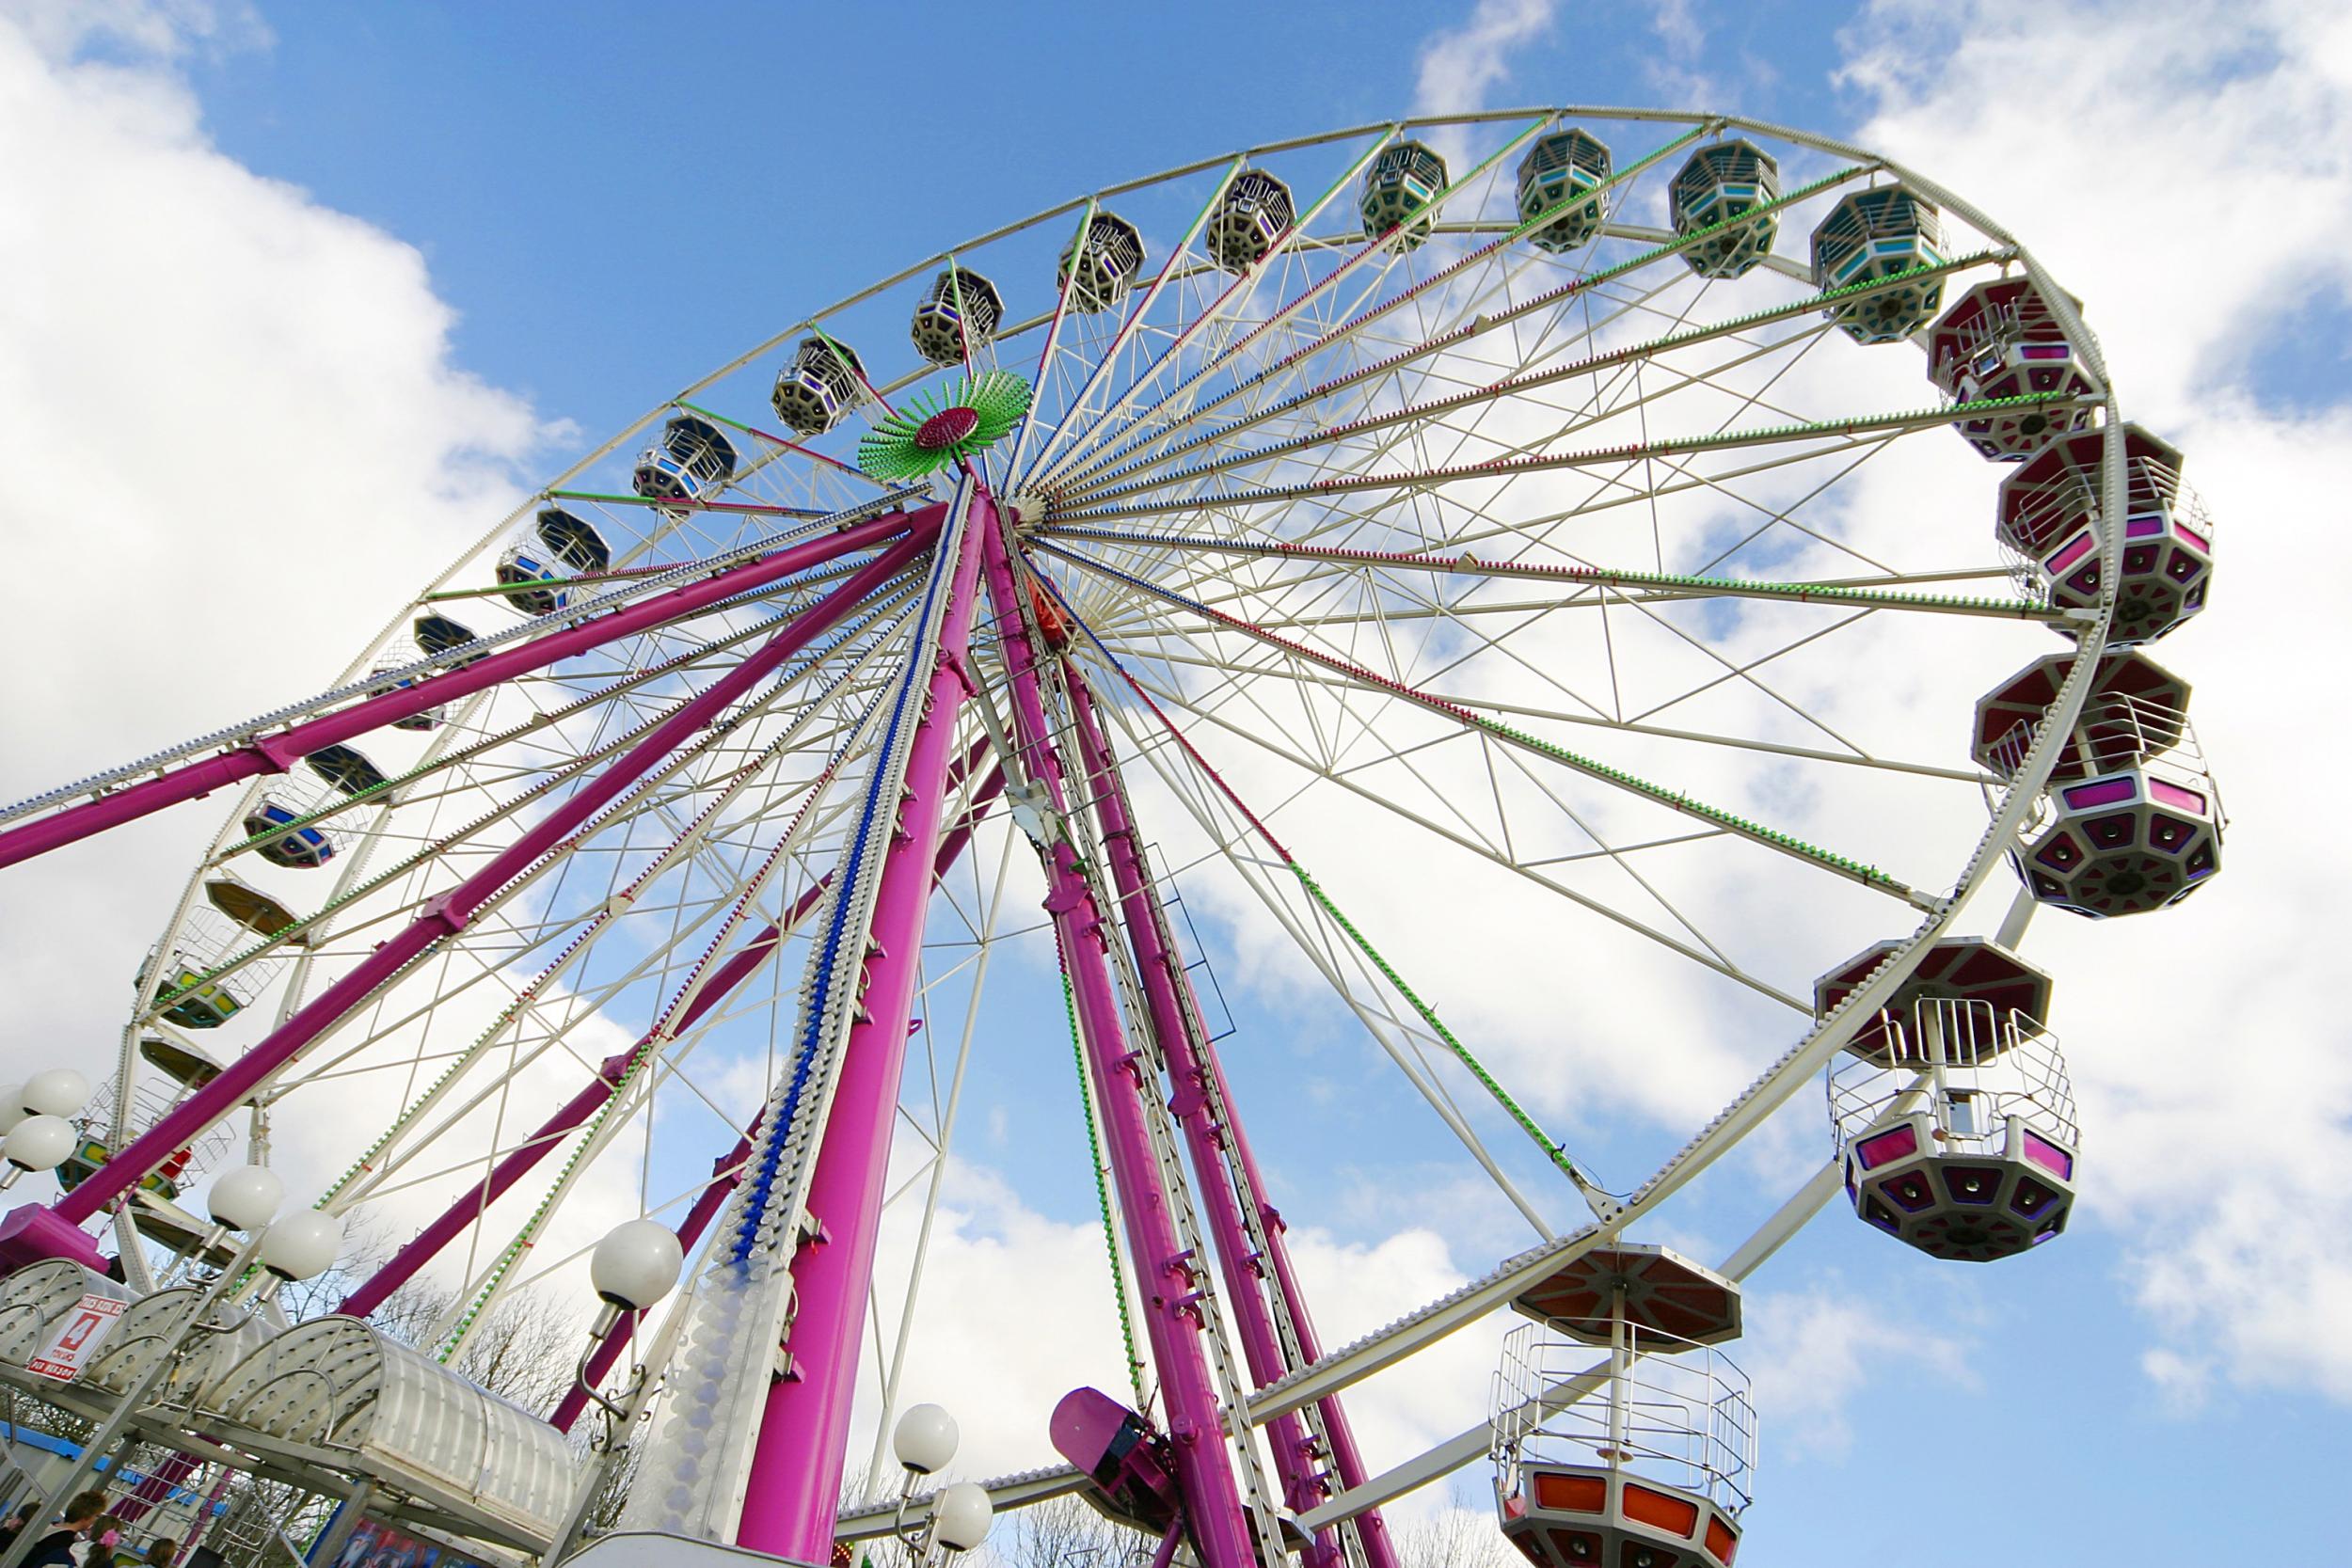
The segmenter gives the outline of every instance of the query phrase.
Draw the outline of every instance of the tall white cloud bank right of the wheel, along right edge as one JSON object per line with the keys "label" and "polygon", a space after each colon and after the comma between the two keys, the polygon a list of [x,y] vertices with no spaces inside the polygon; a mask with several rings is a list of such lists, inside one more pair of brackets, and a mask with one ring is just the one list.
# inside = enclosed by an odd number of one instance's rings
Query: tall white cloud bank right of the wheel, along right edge
{"label": "tall white cloud bank right of the wheel, along right edge", "polygon": [[[2044,917],[2084,1103],[2086,1213],[2133,1251],[2176,1403],[2209,1378],[2352,1399],[2352,1067],[2343,835],[2312,816],[2352,762],[2321,715],[2340,616],[2293,583],[2352,574],[2326,501],[2352,449],[2336,378],[2258,397],[2298,313],[2352,299],[2352,14],[2307,5],[1915,5],[1846,35],[1858,139],[1969,193],[2086,294],[2133,418],[2178,442],[2220,520],[2213,609],[2157,656],[2232,811],[2225,877],[2124,926]],[[2030,129],[2025,129],[2030,127]],[[2336,508],[2340,510],[2340,508]],[[2326,595],[2326,588],[2317,588]]]}

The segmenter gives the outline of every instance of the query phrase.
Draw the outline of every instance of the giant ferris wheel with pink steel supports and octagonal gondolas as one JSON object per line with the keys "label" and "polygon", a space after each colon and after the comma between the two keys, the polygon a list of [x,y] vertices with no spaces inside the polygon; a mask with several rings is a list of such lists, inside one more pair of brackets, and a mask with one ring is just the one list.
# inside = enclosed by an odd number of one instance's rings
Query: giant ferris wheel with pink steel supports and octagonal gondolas
{"label": "giant ferris wheel with pink steel supports and octagonal gondolas", "polygon": [[[553,1556],[581,1483],[546,1434],[597,1403],[623,1528],[828,1561],[941,1528],[844,1500],[851,1401],[887,1434],[915,1399],[967,1081],[1061,1041],[1129,1380],[1040,1408],[995,1507],[1390,1568],[1381,1505],[1491,1460],[1536,1563],[1726,1568],[1740,1281],[1839,1199],[1938,1258],[2058,1237],[2082,1133],[2030,917],[2220,863],[2190,686],[2145,651],[2204,607],[2211,520],[2079,310],[1891,160],[1585,108],[1209,158],[882,277],[550,480],[334,689],[0,813],[7,865],[233,802],[0,1255],[101,1269],[103,1227],[155,1291],[219,1244],[207,1166],[336,1117],[348,1168],[296,1197],[435,1218],[188,1406],[294,1465],[285,1368],[442,1387],[623,1204],[673,1241],[600,1267],[670,1246],[684,1284],[604,1291],[499,1507],[372,1474]],[[1228,1072],[1284,1041],[1228,1037],[1200,903],[1324,987],[1524,1251],[1317,1338],[1282,1215],[1319,1194],[1265,1175],[1291,1107]],[[1590,1091],[1486,1044],[1529,1016]],[[1644,1168],[1548,1117],[1726,1067]],[[1830,1157],[1755,1237],[1642,1241],[1823,1084]],[[459,1295],[379,1345],[426,1267]],[[1472,1429],[1369,1455],[1348,1392],[1503,1307]]]}

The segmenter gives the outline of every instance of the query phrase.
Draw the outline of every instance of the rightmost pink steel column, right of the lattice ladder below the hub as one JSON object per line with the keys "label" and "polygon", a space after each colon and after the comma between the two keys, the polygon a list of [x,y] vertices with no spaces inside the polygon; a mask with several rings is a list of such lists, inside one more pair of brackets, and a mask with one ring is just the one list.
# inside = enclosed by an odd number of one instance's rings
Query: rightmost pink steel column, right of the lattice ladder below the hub
{"label": "rightmost pink steel column, right of the lattice ladder below the hub", "polygon": [[[1068,689],[1077,750],[1087,764],[1094,811],[1103,825],[1105,858],[1110,860],[1112,882],[1120,889],[1127,940],[1136,954],[1143,997],[1150,1004],[1152,1032],[1169,1063],[1169,1079],[1174,1084],[1169,1107],[1176,1112],[1192,1152],[1192,1171],[1202,1185],[1202,1208],[1209,1213],[1209,1232],[1216,1237],[1216,1258],[1225,1276],[1235,1324],[1242,1331],[1249,1375],[1263,1387],[1296,1371],[1282,1354],[1282,1338],[1275,1326],[1272,1305],[1265,1298],[1265,1286],[1272,1284],[1277,1300],[1289,1307],[1291,1331],[1298,1335],[1298,1352],[1305,1361],[1322,1354],[1315,1345],[1315,1326],[1308,1321],[1305,1298],[1298,1293],[1298,1281],[1291,1274],[1282,1215],[1265,1204],[1265,1182],[1258,1175],[1256,1157],[1249,1152],[1242,1112],[1225,1084],[1225,1065],[1218,1060],[1216,1046],[1207,1041],[1207,1032],[1202,1032],[1200,1048],[1195,1051],[1190,1025],[1200,1020],[1200,1001],[1192,997],[1192,980],[1183,969],[1176,938],[1167,929],[1167,917],[1143,865],[1143,849],[1129,816],[1127,783],[1096,719],[1094,693],[1077,670],[1068,672]],[[1209,1114],[1204,1088],[1214,1091],[1216,1105],[1225,1110],[1228,1119],[1223,1124]],[[1228,1147],[1232,1150],[1232,1159],[1240,1161],[1251,1194],[1258,1199],[1265,1258],[1258,1258],[1249,1244],[1242,1194],[1235,1190],[1225,1164]],[[1338,1396],[1324,1399],[1317,1408],[1324,1432],[1331,1439],[1331,1462],[1341,1476],[1341,1486],[1357,1486],[1364,1479],[1364,1460]],[[1305,1422],[1296,1420],[1296,1415],[1282,1415],[1268,1422],[1268,1436],[1272,1439],[1275,1465],[1282,1469],[1291,1507],[1303,1514],[1329,1497],[1329,1486],[1312,1467]],[[1357,1516],[1357,1535],[1364,1542],[1364,1561],[1371,1568],[1395,1568],[1397,1554],[1378,1509]],[[1310,1568],[1341,1561],[1338,1540],[1331,1530],[1315,1537],[1315,1544],[1305,1552],[1305,1561]]]}

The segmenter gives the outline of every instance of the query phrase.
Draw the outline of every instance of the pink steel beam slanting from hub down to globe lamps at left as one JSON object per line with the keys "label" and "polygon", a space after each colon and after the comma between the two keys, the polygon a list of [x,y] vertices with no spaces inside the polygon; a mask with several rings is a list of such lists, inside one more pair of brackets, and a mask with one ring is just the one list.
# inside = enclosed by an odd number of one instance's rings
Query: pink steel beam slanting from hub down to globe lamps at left
{"label": "pink steel beam slanting from hub down to globe lamps at left", "polygon": [[252,1095],[270,1074],[301,1056],[310,1041],[334,1027],[343,1013],[360,1006],[379,985],[430,952],[447,936],[463,931],[475,910],[499,889],[543,853],[557,849],[588,818],[616,802],[640,773],[677,750],[689,736],[774,675],[783,661],[837,625],[861,599],[898,576],[927,543],[924,536],[901,541],[788,621],[757,654],[710,682],[701,693],[687,698],[595,780],[524,830],[510,846],[492,856],[480,872],[440,893],[426,907],[426,914],[400,931],[400,936],[393,936],[369,957],[360,959],[350,973],[270,1030],[261,1044],[230,1063],[216,1079],[165,1112],[155,1126],[132,1138],[52,1208],[28,1204],[9,1213],[7,1220],[0,1220],[0,1262],[24,1265],[40,1258],[73,1258],[89,1267],[101,1267],[96,1248],[80,1232],[82,1220],[129,1192],[141,1175],[162,1164],[172,1152],[193,1143],[202,1128],[212,1126],[212,1121]]}

